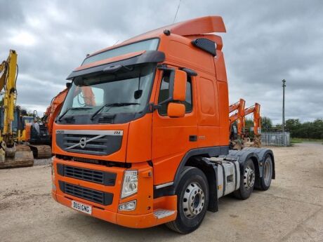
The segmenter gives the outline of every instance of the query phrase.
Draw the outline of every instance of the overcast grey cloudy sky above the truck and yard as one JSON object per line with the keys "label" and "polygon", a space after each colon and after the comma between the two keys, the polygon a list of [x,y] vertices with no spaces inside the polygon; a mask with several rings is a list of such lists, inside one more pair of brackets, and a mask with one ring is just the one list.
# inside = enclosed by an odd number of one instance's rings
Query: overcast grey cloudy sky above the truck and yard
{"label": "overcast grey cloudy sky above the truck and yard", "polygon": [[[173,22],[178,1],[0,0],[0,61],[18,52],[18,105],[41,114],[86,53]],[[176,22],[220,15],[230,103],[262,116],[323,118],[323,1],[181,0]]]}

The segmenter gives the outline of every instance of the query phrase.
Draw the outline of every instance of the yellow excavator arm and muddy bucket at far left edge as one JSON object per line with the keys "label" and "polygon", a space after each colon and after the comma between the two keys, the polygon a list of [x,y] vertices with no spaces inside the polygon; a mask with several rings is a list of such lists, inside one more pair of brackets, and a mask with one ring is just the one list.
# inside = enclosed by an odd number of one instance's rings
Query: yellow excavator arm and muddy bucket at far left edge
{"label": "yellow excavator arm and muddy bucket at far left edge", "polygon": [[0,65],[0,92],[4,95],[4,123],[0,130],[0,168],[15,168],[34,165],[32,151],[25,144],[17,144],[19,133],[13,132],[16,81],[18,76],[17,53],[9,52],[7,60]]}

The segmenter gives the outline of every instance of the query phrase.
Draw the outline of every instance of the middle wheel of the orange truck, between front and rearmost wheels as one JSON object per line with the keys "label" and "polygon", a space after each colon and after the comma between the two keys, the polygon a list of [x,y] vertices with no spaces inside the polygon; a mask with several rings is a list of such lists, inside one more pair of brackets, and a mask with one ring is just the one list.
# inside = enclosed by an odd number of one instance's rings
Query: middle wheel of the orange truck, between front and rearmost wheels
{"label": "middle wheel of the orange truck, between front and rearmost wheels", "polygon": [[245,200],[251,195],[256,180],[255,166],[251,159],[244,163],[244,168],[240,174],[240,187],[233,194],[237,199]]}

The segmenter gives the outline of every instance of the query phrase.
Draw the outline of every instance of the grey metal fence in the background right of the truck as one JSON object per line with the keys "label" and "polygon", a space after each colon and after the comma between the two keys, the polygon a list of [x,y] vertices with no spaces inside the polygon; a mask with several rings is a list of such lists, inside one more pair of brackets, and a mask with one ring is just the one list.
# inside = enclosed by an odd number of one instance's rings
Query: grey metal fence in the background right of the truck
{"label": "grey metal fence in the background right of the truck", "polygon": [[268,146],[289,146],[290,133],[289,132],[262,132],[261,144]]}

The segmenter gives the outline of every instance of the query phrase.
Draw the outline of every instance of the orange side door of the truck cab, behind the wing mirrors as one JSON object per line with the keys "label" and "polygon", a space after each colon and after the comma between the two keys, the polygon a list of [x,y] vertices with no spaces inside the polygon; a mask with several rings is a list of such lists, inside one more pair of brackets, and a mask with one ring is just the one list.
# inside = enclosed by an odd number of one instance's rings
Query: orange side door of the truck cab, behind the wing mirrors
{"label": "orange side door of the truck cab, behind the wing mirrors", "polygon": [[[169,98],[171,73],[159,74],[154,104]],[[167,115],[168,104],[154,110],[152,116],[152,162],[154,184],[172,182],[181,159],[190,149],[197,148],[197,111],[195,76],[187,75],[185,116],[171,118]]]}

